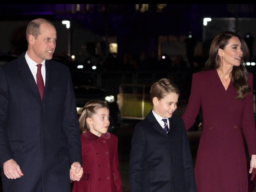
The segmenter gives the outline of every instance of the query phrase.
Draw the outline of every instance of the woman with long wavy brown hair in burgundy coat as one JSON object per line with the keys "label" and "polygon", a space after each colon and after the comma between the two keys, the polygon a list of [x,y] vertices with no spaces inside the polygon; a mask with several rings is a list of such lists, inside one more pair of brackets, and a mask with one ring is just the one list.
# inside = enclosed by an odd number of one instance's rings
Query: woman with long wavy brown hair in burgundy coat
{"label": "woman with long wavy brown hair in burgundy coat", "polygon": [[247,192],[246,154],[242,133],[256,168],[256,130],[253,117],[253,75],[245,63],[249,50],[236,33],[217,35],[205,70],[193,74],[183,114],[186,129],[201,106],[203,131],[195,164],[198,192]]}

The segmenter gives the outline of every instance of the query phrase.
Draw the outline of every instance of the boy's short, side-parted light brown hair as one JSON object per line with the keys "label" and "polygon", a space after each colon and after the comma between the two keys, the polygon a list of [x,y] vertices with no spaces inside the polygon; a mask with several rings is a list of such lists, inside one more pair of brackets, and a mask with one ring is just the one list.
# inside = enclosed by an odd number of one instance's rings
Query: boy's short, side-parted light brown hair
{"label": "boy's short, side-parted light brown hair", "polygon": [[177,85],[169,79],[162,78],[159,81],[153,83],[150,88],[150,101],[153,104],[153,98],[157,97],[158,100],[164,98],[168,93],[181,94]]}

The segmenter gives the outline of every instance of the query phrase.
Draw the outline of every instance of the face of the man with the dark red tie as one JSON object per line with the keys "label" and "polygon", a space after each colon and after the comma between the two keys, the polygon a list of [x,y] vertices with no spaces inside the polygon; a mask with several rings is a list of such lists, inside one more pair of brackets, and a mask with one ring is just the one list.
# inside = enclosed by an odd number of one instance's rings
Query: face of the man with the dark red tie
{"label": "face of the man with the dark red tie", "polygon": [[40,25],[40,34],[33,42],[33,56],[31,59],[37,63],[51,59],[56,47],[56,40],[55,27],[48,23],[42,23]]}

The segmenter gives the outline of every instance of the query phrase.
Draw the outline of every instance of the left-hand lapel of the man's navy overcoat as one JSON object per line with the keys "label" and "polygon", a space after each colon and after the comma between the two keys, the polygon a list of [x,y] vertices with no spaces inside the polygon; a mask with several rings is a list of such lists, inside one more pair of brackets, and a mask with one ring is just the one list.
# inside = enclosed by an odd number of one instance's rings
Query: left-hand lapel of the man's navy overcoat
{"label": "left-hand lapel of the man's navy overcoat", "polygon": [[42,102],[40,93],[38,91],[37,83],[35,82],[35,79],[29,69],[29,65],[27,64],[27,61],[25,59],[25,52],[21,56],[18,57],[18,66],[19,66],[19,71],[20,71],[21,77],[29,85],[30,89],[35,94],[35,96],[38,98],[38,100],[40,102]]}

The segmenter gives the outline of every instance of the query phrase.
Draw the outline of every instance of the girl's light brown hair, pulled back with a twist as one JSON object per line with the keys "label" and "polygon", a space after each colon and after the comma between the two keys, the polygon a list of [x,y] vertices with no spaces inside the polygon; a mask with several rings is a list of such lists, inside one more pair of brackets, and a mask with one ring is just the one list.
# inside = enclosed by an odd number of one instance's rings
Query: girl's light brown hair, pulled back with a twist
{"label": "girl's light brown hair, pulled back with a twist", "polygon": [[109,106],[107,105],[106,101],[98,101],[98,100],[91,100],[85,104],[85,106],[82,109],[82,113],[79,117],[79,129],[81,134],[89,131],[89,126],[86,124],[86,119],[92,118],[96,113],[97,110],[100,108],[107,108],[109,109]]}

